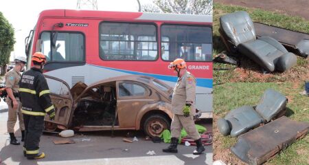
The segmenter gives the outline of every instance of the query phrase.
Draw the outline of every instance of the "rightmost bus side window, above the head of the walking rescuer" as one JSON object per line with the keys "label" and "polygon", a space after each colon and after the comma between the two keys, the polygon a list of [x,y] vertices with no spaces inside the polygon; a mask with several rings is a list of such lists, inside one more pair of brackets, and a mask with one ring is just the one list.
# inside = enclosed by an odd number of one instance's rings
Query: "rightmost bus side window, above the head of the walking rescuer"
{"label": "rightmost bus side window, above the head of the walking rescuer", "polygon": [[211,28],[202,25],[161,26],[161,58],[174,61],[212,61]]}

